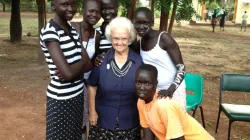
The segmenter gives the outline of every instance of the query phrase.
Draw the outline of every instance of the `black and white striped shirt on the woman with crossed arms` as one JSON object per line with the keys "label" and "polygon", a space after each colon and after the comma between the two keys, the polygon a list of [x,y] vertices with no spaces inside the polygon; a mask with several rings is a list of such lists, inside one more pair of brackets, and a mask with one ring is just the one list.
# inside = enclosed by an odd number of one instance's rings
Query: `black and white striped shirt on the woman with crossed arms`
{"label": "black and white striped shirt on the woman with crossed arms", "polygon": [[45,25],[44,28],[42,28],[40,34],[40,45],[44,52],[46,62],[48,63],[50,73],[50,84],[47,88],[47,96],[57,100],[73,98],[82,93],[84,87],[81,76],[70,82],[59,81],[58,76],[54,75],[57,67],[51,59],[46,46],[46,42],[48,41],[58,41],[69,65],[80,61],[82,59],[82,48],[79,42],[79,34],[69,22],[68,24],[70,25],[69,34],[60,28],[60,26],[57,25],[53,20],[50,20],[50,22]]}

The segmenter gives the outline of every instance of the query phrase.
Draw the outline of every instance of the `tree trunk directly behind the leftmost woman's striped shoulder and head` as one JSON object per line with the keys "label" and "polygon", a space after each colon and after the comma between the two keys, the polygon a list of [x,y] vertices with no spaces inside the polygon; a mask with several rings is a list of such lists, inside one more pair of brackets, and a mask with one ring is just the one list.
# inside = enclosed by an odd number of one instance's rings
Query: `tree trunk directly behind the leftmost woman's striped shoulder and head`
{"label": "tree trunk directly behind the leftmost woman's striped shoulder and head", "polygon": [[[38,5],[38,33],[40,34],[41,32],[41,29],[43,28],[43,26],[45,25],[45,14],[46,14],[46,11],[45,11],[45,0],[37,0],[37,5]],[[38,35],[39,36],[39,35]],[[38,39],[38,44],[40,45],[40,40]],[[44,61],[44,54],[42,52],[41,49],[39,49],[38,51],[38,64],[42,65],[45,63]]]}

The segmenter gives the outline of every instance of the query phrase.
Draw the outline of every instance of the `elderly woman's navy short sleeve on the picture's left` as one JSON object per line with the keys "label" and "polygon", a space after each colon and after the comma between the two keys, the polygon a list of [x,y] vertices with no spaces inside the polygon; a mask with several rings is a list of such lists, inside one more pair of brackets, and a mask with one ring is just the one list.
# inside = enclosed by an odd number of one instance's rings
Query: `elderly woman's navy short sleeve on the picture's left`
{"label": "elderly woman's navy short sleeve on the picture's left", "polygon": [[[102,66],[102,65],[101,65]],[[87,83],[88,85],[90,86],[97,86],[98,85],[98,82],[99,82],[99,77],[100,77],[100,67],[101,66],[95,66],[93,69],[92,69],[92,72],[91,74],[89,75],[89,78],[87,80]]]}

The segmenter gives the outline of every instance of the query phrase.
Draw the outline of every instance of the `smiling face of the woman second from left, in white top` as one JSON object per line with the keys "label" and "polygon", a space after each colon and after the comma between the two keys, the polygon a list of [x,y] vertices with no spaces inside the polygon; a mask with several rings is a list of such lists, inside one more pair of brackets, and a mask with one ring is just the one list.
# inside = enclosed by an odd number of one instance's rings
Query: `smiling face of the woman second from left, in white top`
{"label": "smiling face of the woman second from left, in white top", "polygon": [[95,25],[101,18],[101,5],[97,1],[86,1],[83,19],[90,25]]}

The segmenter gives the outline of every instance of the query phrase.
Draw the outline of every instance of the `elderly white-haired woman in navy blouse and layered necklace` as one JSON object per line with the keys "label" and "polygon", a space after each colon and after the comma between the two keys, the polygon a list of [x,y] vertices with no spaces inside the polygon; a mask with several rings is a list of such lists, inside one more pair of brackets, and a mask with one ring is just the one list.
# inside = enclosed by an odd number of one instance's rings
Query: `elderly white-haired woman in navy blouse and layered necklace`
{"label": "elderly white-haired woman in navy blouse and layered necklace", "polygon": [[136,35],[130,20],[113,19],[105,35],[112,49],[103,63],[94,67],[88,82],[89,139],[139,140],[140,127],[135,94],[135,72],[142,65],[140,55],[129,49]]}

